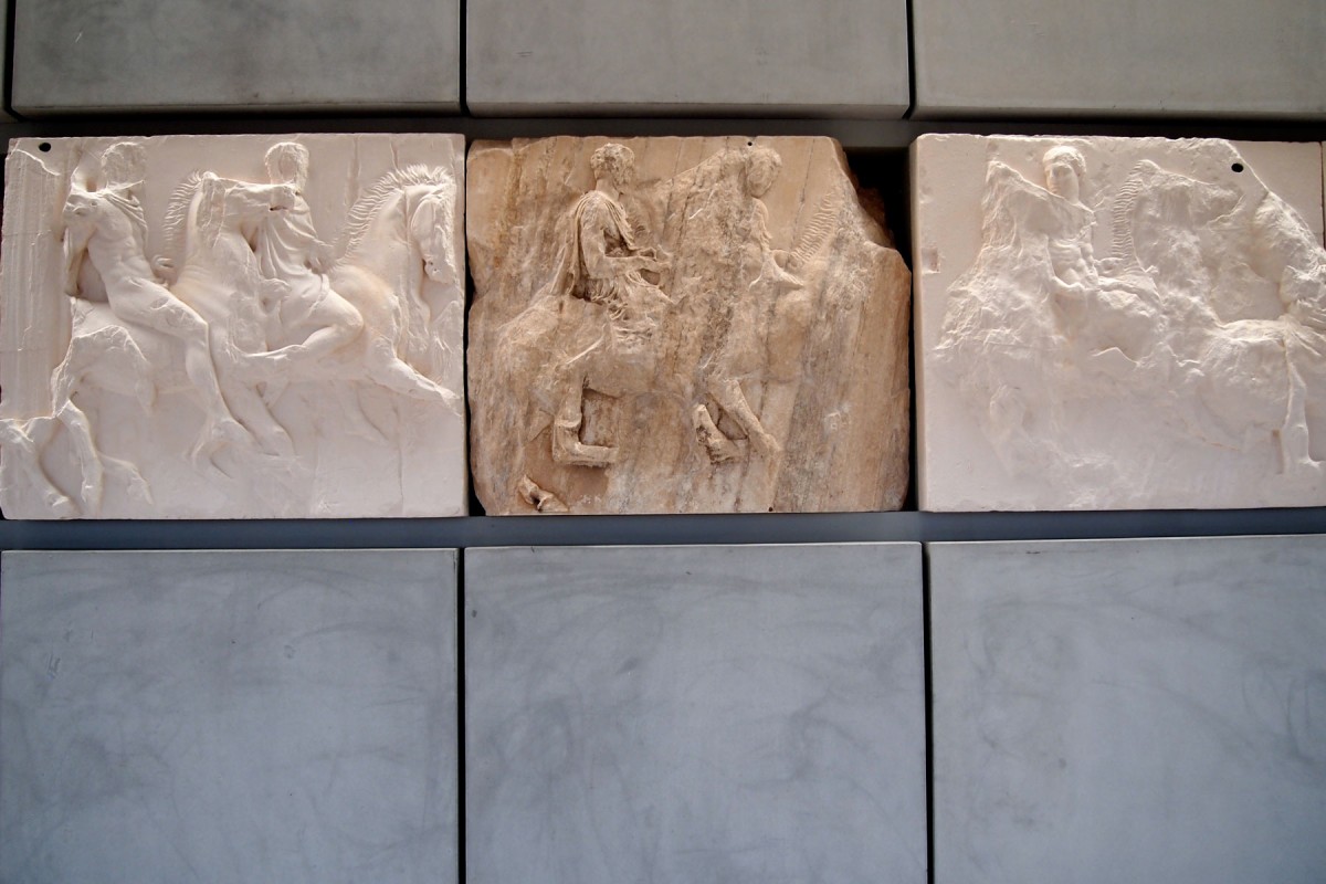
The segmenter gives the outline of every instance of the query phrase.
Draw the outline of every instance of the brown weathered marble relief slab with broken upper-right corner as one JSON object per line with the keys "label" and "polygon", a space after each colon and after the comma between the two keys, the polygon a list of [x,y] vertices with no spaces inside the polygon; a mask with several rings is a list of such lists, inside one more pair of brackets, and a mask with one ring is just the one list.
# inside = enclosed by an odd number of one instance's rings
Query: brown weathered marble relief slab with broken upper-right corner
{"label": "brown weathered marble relief slab with broken upper-right corner", "polygon": [[900,506],[910,276],[835,142],[480,142],[467,174],[489,514]]}

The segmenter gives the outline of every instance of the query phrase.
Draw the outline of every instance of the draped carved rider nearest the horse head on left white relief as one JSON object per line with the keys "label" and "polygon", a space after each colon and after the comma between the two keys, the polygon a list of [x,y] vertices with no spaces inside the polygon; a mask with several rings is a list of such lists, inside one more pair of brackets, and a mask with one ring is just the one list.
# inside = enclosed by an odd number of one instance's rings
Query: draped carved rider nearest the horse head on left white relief
{"label": "draped carved rider nearest the horse head on left white relief", "polygon": [[[304,199],[308,148],[281,142],[267,151],[264,164],[271,187],[289,188],[290,197],[288,204],[273,204],[273,211],[257,216],[244,233],[257,256],[259,273],[269,281],[276,298],[268,305],[268,337],[278,346],[263,355],[284,367],[293,359],[317,359],[345,346],[363,330],[363,317],[328,281],[332,249],[318,239]],[[261,186],[237,187],[264,191]]]}

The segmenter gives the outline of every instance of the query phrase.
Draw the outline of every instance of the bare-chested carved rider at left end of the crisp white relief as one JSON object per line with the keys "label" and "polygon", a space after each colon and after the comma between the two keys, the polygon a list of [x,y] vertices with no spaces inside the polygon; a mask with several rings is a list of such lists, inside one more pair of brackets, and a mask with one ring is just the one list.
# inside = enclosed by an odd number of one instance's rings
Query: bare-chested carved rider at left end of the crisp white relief
{"label": "bare-chested carved rider at left end of the crisp white relief", "polygon": [[221,396],[207,322],[163,286],[147,264],[147,223],[138,199],[142,180],[143,148],[131,142],[111,144],[102,152],[95,190],[81,171],[74,174],[62,212],[65,293],[105,300],[126,326],[167,335],[184,346],[184,368],[206,412],[195,457],[224,443],[249,443],[248,431]]}

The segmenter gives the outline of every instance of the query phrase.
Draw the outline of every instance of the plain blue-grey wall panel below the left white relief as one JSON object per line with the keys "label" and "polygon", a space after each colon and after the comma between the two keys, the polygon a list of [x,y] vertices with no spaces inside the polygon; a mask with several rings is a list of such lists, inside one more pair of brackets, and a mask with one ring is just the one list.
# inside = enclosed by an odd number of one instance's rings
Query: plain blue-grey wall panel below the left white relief
{"label": "plain blue-grey wall panel below the left white relief", "polygon": [[455,550],[3,570],[0,879],[457,880]]}

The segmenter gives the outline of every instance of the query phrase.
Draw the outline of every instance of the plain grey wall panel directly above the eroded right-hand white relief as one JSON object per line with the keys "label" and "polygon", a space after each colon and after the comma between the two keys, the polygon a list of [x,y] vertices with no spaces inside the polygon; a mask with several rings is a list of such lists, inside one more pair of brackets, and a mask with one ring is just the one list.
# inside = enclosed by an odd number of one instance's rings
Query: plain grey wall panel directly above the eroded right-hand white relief
{"label": "plain grey wall panel directly above the eroded right-hand white relief", "polygon": [[918,118],[1326,115],[1326,5],[916,0]]}

